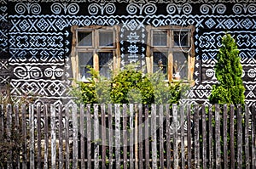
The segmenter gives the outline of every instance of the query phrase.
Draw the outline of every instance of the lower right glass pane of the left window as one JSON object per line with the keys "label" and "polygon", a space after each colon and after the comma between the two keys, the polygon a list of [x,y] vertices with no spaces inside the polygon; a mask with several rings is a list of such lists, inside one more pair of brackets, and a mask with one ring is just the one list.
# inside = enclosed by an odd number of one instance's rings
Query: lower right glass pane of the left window
{"label": "lower right glass pane of the left window", "polygon": [[100,75],[109,78],[111,76],[111,70],[113,70],[113,52],[100,52],[98,54]]}

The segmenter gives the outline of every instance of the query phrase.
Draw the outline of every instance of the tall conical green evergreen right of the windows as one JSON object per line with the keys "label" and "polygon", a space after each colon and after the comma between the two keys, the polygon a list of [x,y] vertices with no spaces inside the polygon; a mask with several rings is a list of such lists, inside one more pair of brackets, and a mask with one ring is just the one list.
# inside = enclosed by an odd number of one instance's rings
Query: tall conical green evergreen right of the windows
{"label": "tall conical green evergreen right of the windows", "polygon": [[214,70],[218,84],[212,86],[210,103],[244,104],[245,88],[241,80],[239,50],[235,39],[230,34],[222,38],[222,47],[219,48],[217,60]]}

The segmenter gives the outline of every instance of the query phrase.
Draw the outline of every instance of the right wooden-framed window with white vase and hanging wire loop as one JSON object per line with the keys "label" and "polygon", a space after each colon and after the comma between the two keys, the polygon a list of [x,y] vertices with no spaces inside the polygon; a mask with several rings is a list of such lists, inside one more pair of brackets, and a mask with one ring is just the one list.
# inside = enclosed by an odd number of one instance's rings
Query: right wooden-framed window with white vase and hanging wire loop
{"label": "right wooden-framed window with white vase and hanging wire loop", "polygon": [[194,26],[148,25],[147,70],[162,70],[170,82],[193,80],[195,53]]}

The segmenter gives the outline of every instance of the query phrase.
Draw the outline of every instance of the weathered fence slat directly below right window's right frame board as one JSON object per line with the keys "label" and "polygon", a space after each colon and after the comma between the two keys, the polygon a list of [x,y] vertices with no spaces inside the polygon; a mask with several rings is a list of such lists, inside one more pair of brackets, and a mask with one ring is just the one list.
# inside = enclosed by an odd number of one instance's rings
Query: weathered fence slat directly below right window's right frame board
{"label": "weathered fence slat directly below right window's right frame board", "polygon": [[188,168],[191,168],[191,105],[189,104],[188,109],[187,109],[187,115],[188,115],[188,120],[187,120],[187,135],[188,135]]}

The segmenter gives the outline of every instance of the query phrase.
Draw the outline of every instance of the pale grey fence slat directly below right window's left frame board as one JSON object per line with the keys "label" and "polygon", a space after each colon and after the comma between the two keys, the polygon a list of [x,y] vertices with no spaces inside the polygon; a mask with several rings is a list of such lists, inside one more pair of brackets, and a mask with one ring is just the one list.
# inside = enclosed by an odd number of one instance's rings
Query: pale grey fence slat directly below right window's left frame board
{"label": "pale grey fence slat directly below right window's left frame board", "polygon": [[152,168],[157,169],[157,138],[156,138],[156,105],[152,104],[151,108],[151,136],[152,136]]}

